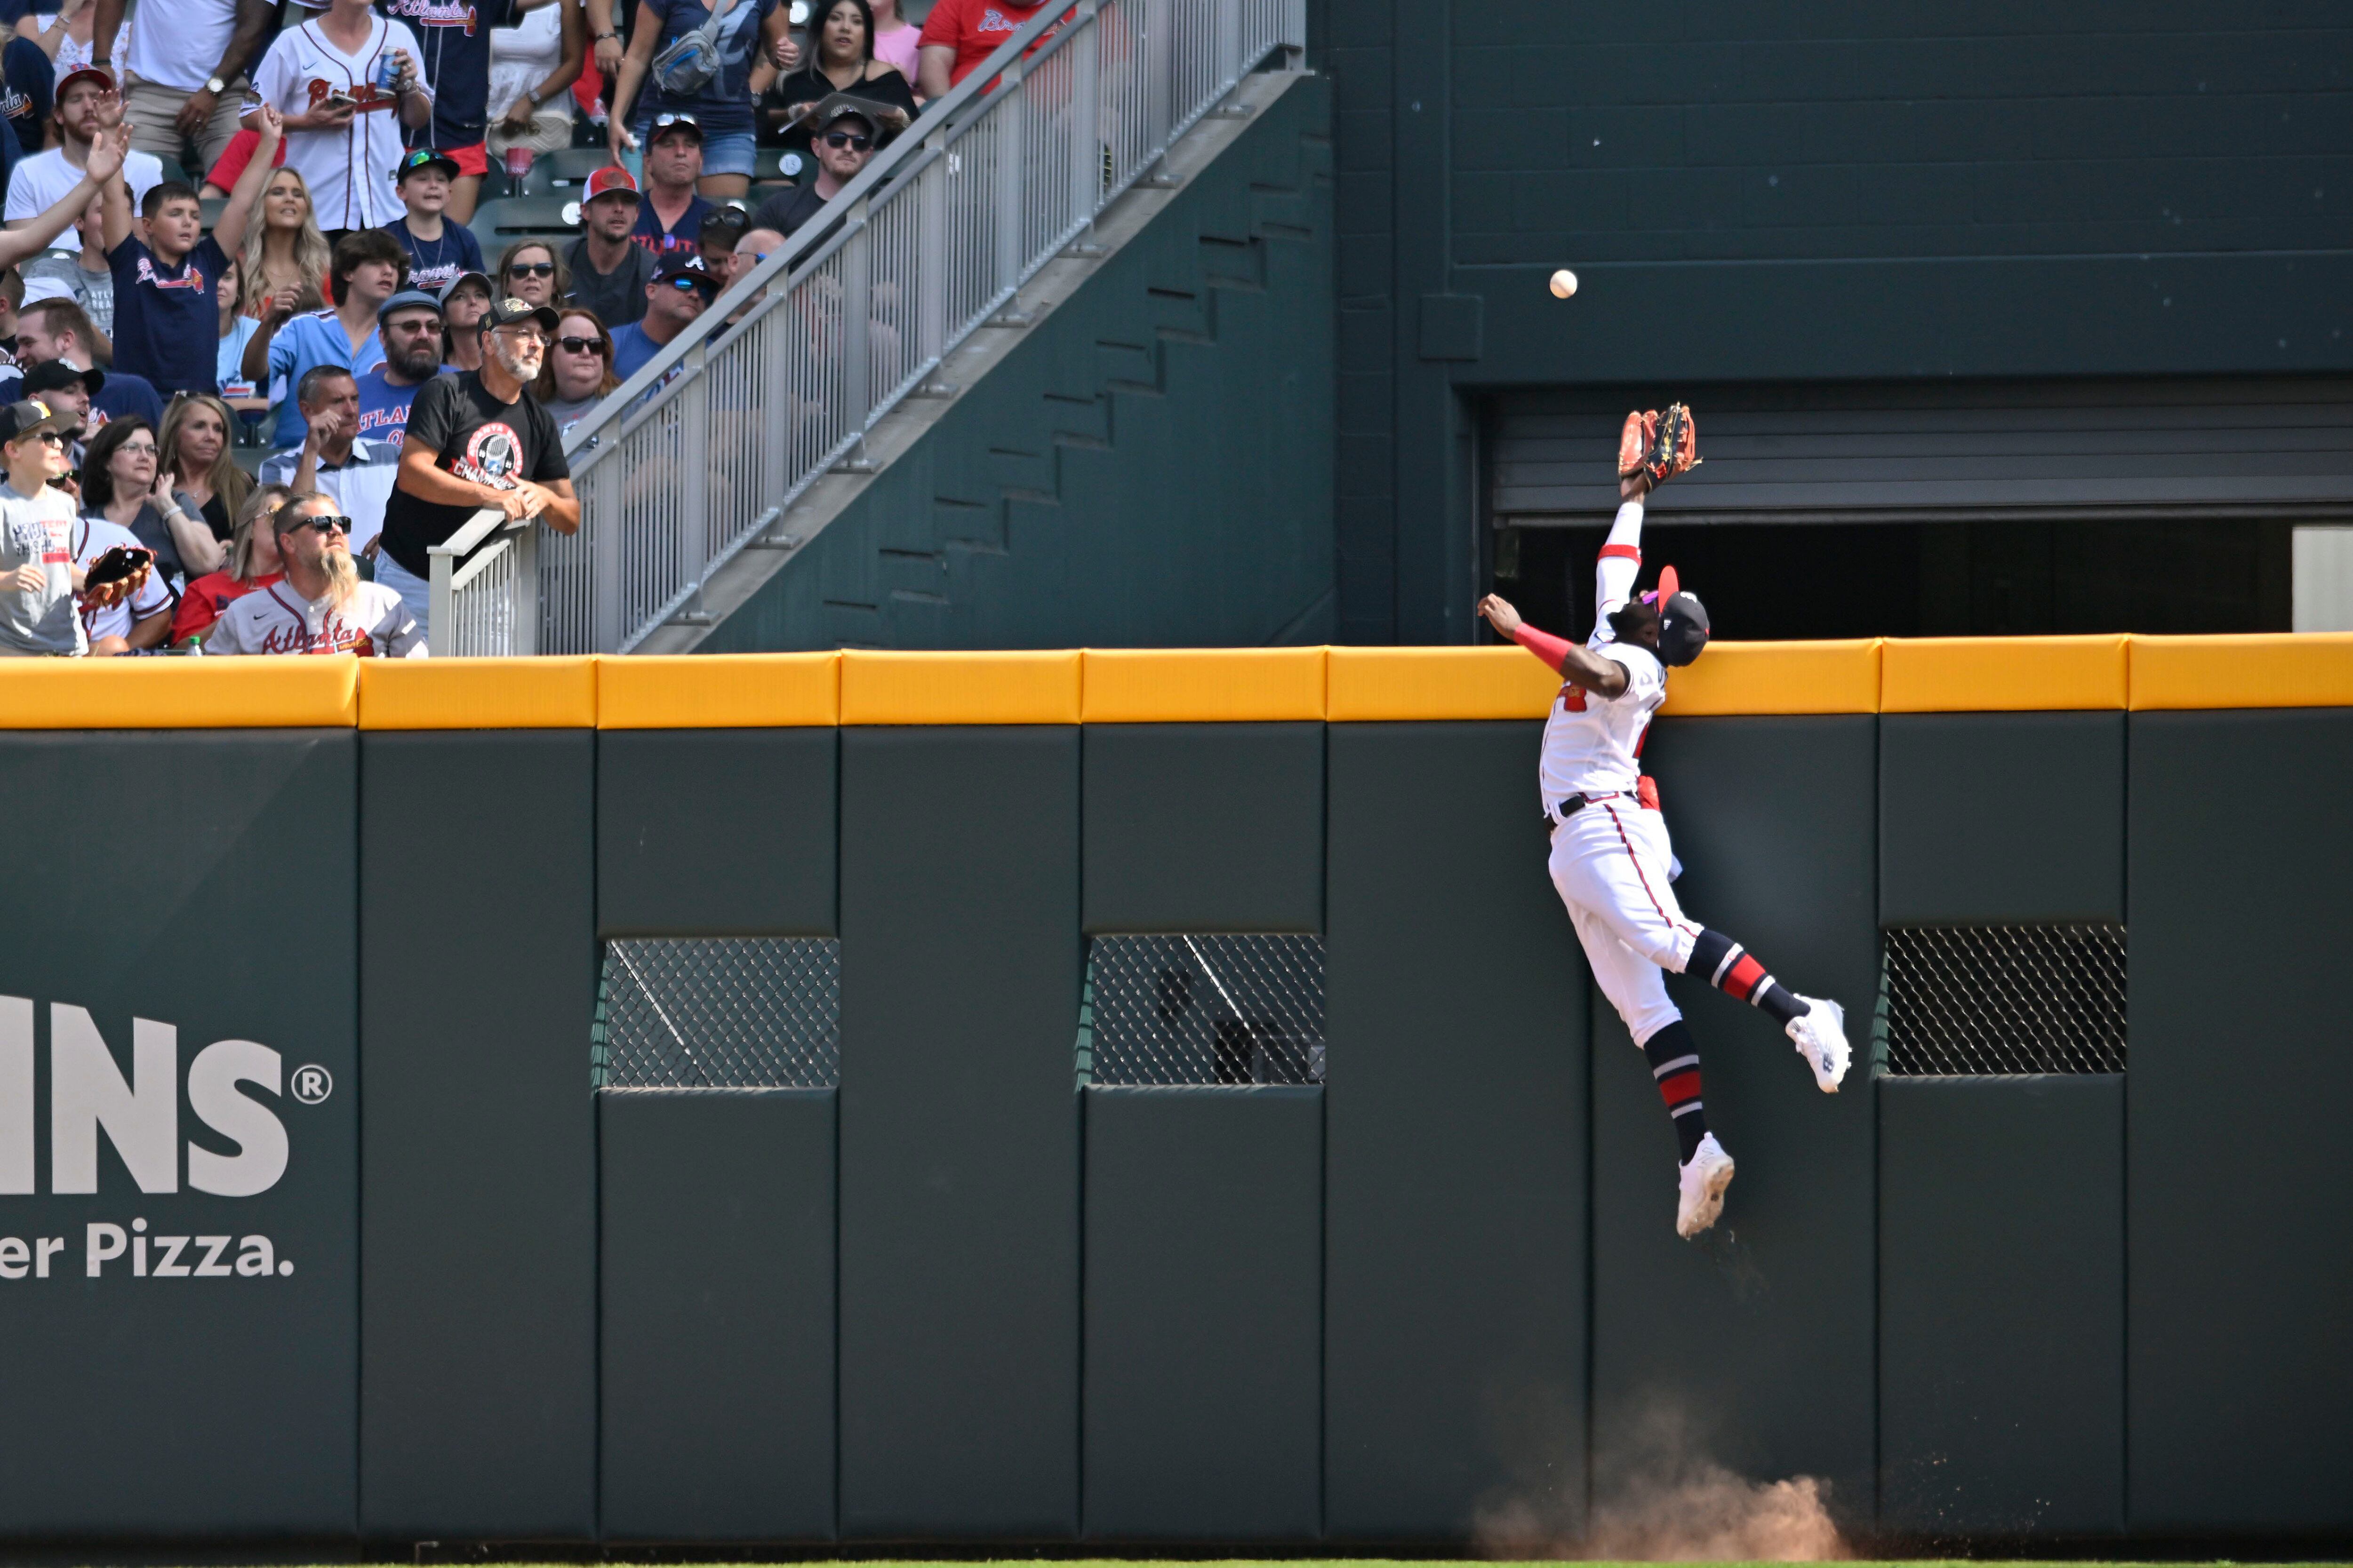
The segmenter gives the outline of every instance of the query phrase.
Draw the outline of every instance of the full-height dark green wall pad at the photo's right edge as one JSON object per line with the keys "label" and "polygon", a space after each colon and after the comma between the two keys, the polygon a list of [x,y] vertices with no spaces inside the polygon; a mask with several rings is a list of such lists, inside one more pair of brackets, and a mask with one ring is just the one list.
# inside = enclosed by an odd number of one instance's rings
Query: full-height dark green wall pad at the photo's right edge
{"label": "full-height dark green wall pad at the photo's right edge", "polygon": [[2353,710],[2132,717],[2137,1533],[2353,1530]]}

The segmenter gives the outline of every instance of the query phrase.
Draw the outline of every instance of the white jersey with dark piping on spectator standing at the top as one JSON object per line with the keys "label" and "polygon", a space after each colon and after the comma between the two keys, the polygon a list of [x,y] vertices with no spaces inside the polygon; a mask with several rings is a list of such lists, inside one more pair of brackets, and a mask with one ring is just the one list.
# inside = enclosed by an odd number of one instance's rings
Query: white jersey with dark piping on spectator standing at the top
{"label": "white jersey with dark piping on spectator standing at the top", "polygon": [[393,165],[402,153],[400,99],[376,87],[376,66],[391,49],[407,49],[424,82],[426,56],[416,35],[384,16],[367,19],[367,42],[358,54],[336,49],[318,19],[287,28],[254,71],[254,103],[275,103],[285,115],[311,113],[332,92],[360,106],[339,132],[287,132],[287,167],[311,183],[311,212],[320,228],[381,228],[407,214],[393,190]]}

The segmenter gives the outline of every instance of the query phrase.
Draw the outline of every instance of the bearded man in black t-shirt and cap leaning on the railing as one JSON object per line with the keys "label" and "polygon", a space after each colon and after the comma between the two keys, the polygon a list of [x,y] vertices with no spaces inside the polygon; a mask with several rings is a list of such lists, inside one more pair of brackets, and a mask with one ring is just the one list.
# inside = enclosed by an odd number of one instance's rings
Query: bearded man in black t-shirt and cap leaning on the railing
{"label": "bearded man in black t-shirt and cap leaning on the railing", "polygon": [[478,510],[536,517],[558,534],[581,527],[562,437],[529,393],[555,322],[551,306],[494,301],[482,317],[482,369],[435,376],[409,404],[400,480],[384,505],[376,581],[391,585],[426,630],[433,611],[426,552]]}

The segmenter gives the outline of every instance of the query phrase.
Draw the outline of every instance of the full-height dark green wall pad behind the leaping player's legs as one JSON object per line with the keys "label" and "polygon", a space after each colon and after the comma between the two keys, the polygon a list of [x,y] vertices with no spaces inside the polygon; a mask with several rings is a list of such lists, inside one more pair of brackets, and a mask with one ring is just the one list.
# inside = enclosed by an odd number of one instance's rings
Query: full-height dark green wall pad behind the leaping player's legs
{"label": "full-height dark green wall pad behind the leaping player's legs", "polygon": [[1838,1095],[1765,1013],[1673,976],[1708,1126],[1739,1161],[1725,1218],[1675,1237],[1675,1133],[1593,997],[1595,1502],[1640,1481],[1661,1420],[1748,1476],[1812,1474],[1871,1519],[1875,719],[1664,719],[1647,748],[1682,912],[1746,943],[1861,1039]]}

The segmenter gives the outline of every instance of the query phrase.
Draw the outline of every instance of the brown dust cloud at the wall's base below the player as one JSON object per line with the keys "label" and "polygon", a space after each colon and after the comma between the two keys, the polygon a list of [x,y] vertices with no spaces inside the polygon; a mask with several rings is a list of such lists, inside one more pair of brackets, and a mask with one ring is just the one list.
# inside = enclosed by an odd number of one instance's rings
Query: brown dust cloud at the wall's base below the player
{"label": "brown dust cloud at the wall's base below the player", "polygon": [[1708,1455],[1671,1403],[1617,1422],[1595,1460],[1593,1512],[1579,1530],[1565,1505],[1492,1497],[1475,1542],[1497,1559],[1638,1563],[1812,1563],[1849,1556],[1814,1476],[1751,1481]]}

